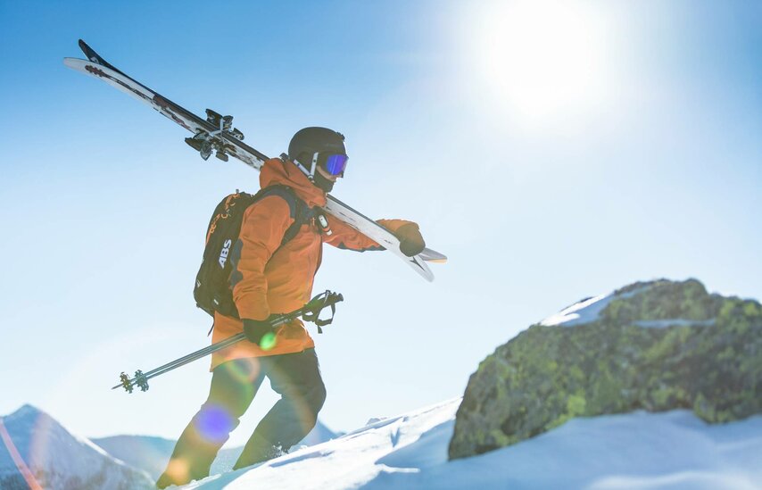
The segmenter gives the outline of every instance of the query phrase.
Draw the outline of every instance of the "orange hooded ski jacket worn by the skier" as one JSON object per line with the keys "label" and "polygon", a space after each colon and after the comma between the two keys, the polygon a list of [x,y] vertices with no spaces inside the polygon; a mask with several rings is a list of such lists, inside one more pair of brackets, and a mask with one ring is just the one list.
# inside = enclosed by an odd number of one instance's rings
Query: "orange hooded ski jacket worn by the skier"
{"label": "orange hooded ski jacket worn by the skier", "polygon": [[[326,194],[315,187],[291,162],[273,158],[264,163],[260,174],[262,188],[281,184],[309,206],[324,206]],[[359,252],[383,250],[375,241],[350,227],[344,221],[326,215],[331,235],[322,233],[314,222],[302,225],[294,238],[281,246],[286,229],[294,217],[286,200],[269,195],[253,203],[244,212],[241,234],[231,252],[234,270],[230,283],[233,299],[242,319],[265,320],[273,313],[286,313],[310,301],[312,282],[320,267],[322,245]],[[378,220],[391,231],[409,223],[405,220]],[[214,314],[212,342],[219,342],[244,331],[241,320]],[[243,341],[214,353],[211,369],[225,361],[284,353],[299,353],[315,344],[302,320],[277,328],[275,345],[265,351]]]}

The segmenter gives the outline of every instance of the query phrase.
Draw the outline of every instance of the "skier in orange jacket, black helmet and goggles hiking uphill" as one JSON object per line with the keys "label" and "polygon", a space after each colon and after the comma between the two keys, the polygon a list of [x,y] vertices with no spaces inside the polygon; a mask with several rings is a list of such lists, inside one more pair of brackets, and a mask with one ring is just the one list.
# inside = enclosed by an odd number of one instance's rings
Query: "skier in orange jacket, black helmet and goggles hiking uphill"
{"label": "skier in orange jacket, black helmet and goggles hiking uphill", "polygon": [[[243,320],[215,311],[212,342],[242,331],[249,342],[212,356],[209,397],[180,436],[167,469],[156,482],[159,488],[209,475],[211,462],[265,377],[280,399],[261,419],[233,469],[287,452],[315,426],[326,399],[315,344],[302,321],[272,331],[266,320],[309,301],[323,243],[359,252],[383,247],[343,221],[319,213],[326,204],[326,193],[336,179],[344,177],[348,157],[341,133],[327,128],[302,129],[292,138],[287,156],[265,162],[261,187],[289,187],[313,210],[312,219],[282,244],[295,219],[287,195],[267,195],[244,212],[240,237],[228,258],[234,267],[230,287]],[[416,223],[378,223],[400,239],[406,255],[424,249]]]}

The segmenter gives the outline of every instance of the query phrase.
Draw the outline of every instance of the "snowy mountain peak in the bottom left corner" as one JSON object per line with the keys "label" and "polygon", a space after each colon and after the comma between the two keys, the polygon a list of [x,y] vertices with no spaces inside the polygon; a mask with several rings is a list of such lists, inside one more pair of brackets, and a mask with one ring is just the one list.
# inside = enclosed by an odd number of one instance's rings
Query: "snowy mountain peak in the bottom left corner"
{"label": "snowy mountain peak in the bottom left corner", "polygon": [[24,405],[0,418],[0,488],[152,488],[144,471],[73,436],[44,411]]}

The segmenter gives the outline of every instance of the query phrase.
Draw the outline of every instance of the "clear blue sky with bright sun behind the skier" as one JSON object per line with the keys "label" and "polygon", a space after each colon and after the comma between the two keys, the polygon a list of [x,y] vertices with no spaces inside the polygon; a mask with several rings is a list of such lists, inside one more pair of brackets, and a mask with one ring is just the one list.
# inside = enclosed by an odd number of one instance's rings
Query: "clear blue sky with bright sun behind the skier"
{"label": "clear blue sky with bright sun behind the skier", "polygon": [[146,394],[108,387],[206,345],[205,227],[258,186],[67,70],[79,37],[187,109],[233,114],[265,154],[342,131],[335,195],[450,256],[428,284],[385,253],[326,251],[316,291],[346,297],[316,336],[331,428],[462,394],[518,331],[635,280],[762,297],[758,3],[3,2],[0,413],[177,437],[204,361]]}

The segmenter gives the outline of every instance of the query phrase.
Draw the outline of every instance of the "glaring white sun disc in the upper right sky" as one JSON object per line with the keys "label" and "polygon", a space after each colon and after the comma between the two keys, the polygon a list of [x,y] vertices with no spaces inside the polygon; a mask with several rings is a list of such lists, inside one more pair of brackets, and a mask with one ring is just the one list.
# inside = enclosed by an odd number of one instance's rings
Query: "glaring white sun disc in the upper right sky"
{"label": "glaring white sun disc in the upper right sky", "polygon": [[519,0],[485,5],[472,32],[476,71],[488,87],[489,104],[537,122],[600,100],[606,46],[589,4]]}

